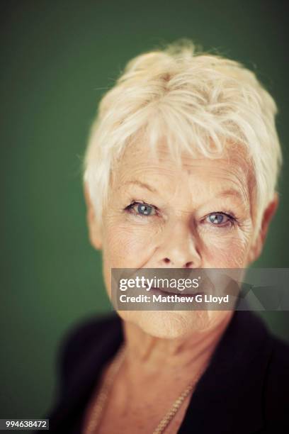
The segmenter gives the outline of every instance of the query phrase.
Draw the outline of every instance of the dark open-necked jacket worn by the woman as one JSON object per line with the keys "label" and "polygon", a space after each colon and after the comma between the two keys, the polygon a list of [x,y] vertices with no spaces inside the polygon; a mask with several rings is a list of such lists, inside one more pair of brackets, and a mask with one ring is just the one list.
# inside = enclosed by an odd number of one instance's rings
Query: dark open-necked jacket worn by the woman
{"label": "dark open-necked jacket worn by the woman", "polygon": [[[58,401],[47,416],[51,433],[81,433],[101,369],[122,340],[115,313],[86,320],[69,333],[58,360]],[[255,313],[234,312],[179,433],[289,433],[289,345]]]}

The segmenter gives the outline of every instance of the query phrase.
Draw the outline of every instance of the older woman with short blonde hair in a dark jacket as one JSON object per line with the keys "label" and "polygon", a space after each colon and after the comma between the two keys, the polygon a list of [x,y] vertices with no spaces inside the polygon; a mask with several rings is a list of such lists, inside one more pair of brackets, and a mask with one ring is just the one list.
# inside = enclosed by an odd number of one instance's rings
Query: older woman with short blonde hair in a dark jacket
{"label": "older woman with short blonde hair in a dark jacket", "polygon": [[[276,111],[253,72],[190,40],[128,62],[84,158],[108,296],[113,268],[259,257],[278,205]],[[69,333],[50,430],[283,433],[288,372],[289,346],[252,312],[120,310]]]}

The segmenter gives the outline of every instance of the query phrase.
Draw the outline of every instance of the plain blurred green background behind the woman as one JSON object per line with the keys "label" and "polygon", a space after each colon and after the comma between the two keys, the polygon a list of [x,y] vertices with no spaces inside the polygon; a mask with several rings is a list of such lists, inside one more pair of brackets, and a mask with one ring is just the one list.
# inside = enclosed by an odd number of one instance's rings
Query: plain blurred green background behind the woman
{"label": "plain blurred green background behind the woman", "polygon": [[[1,1],[1,414],[39,418],[78,321],[111,310],[81,158],[125,63],[176,38],[253,68],[277,101],[280,208],[259,267],[288,267],[288,30],[280,1]],[[289,312],[262,313],[289,340]]]}

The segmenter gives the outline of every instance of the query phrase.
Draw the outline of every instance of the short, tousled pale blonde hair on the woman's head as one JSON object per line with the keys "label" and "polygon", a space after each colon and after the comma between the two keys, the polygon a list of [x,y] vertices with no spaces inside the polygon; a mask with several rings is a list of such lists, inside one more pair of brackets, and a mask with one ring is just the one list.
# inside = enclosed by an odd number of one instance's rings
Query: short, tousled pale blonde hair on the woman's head
{"label": "short, tousled pale blonde hair on the woman's head", "polygon": [[101,219],[113,163],[140,131],[154,149],[166,138],[171,152],[215,157],[225,142],[245,146],[256,180],[256,230],[273,199],[282,165],[276,103],[241,63],[196,52],[191,40],[145,52],[125,66],[106,92],[91,127],[84,182]]}

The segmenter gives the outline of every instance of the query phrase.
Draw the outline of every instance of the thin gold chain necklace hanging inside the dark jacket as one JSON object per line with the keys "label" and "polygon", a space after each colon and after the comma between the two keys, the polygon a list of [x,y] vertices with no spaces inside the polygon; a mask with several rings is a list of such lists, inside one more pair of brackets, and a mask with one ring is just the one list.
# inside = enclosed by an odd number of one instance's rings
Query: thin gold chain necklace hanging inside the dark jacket
{"label": "thin gold chain necklace hanging inside the dark jacket", "polygon": [[[115,379],[115,375],[118,373],[118,369],[120,369],[120,365],[123,362],[124,355],[125,355],[125,347],[122,346],[118,350],[113,362],[111,362],[111,365],[108,368],[106,379],[101,385],[101,388],[98,392],[96,403],[94,404],[94,409],[92,411],[92,416],[90,417],[85,434],[96,434],[97,432],[96,430],[101,421],[101,413],[103,411],[104,406],[106,405],[106,401],[108,400],[108,394],[111,390],[111,386],[113,385],[113,380]],[[204,371],[205,369],[203,369],[198,374],[198,376],[195,377],[193,382],[191,382],[186,387],[186,389],[181,393],[179,398],[177,398],[176,401],[174,401],[174,404],[171,406],[171,409],[166,413],[164,418],[162,418],[162,421],[159,422],[159,425],[157,425],[157,428],[154,429],[152,434],[164,433],[164,430],[169,425],[169,423],[174,418],[174,416],[176,416],[176,413],[179,411],[181,404],[183,404],[183,401],[186,399],[188,394],[190,394],[190,392],[193,390],[193,387],[196,385],[196,383],[198,382],[198,380],[200,379]]]}

